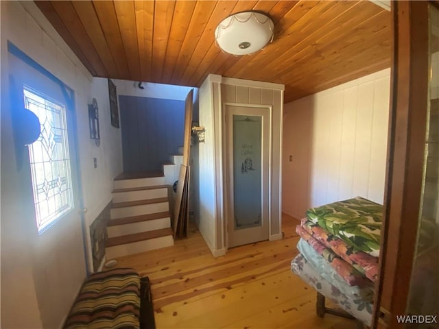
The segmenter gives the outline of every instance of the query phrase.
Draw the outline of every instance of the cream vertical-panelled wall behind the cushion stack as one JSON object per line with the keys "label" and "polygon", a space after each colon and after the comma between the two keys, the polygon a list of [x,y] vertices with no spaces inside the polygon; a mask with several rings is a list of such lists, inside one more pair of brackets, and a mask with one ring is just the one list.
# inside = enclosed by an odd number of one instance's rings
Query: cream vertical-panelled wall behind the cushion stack
{"label": "cream vertical-panelled wall behind the cushion stack", "polygon": [[283,212],[357,195],[383,203],[389,97],[385,69],[285,104]]}

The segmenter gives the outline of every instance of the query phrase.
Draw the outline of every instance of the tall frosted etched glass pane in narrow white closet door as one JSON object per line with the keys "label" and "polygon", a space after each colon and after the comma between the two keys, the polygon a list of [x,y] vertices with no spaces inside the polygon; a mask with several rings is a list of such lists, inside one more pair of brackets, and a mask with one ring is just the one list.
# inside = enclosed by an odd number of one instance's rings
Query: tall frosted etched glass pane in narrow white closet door
{"label": "tall frosted etched glass pane in narrow white closet door", "polygon": [[262,117],[233,115],[235,230],[261,226]]}

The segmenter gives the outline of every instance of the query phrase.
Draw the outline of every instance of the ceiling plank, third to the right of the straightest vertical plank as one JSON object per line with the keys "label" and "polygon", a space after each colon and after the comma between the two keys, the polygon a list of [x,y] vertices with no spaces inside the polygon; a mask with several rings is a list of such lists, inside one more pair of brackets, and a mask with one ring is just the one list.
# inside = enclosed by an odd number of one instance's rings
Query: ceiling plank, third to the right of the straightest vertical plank
{"label": "ceiling plank, third to the right of the straightest vertical plank", "polygon": [[198,40],[204,32],[204,28],[209,22],[211,13],[217,5],[216,1],[197,1],[193,10],[191,23],[187,27],[185,40],[183,41],[178,59],[176,61],[174,72],[172,73],[171,83],[179,84],[186,66],[190,60],[191,54],[198,44]]}

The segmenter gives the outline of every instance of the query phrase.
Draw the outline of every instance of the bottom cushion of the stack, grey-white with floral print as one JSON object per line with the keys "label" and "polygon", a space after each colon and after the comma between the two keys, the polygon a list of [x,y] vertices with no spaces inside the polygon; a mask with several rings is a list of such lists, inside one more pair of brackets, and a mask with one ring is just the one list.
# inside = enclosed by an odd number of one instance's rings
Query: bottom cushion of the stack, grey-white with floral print
{"label": "bottom cushion of the stack, grey-white with floral print", "polygon": [[[340,289],[335,287],[335,285],[324,280],[320,273],[307,262],[302,254],[298,254],[298,256],[292,260],[291,269],[319,293],[339,305],[359,321],[370,326],[373,308],[371,302],[366,302],[361,297],[346,295],[346,293],[343,293]],[[347,286],[346,289],[351,289],[351,287]]]}

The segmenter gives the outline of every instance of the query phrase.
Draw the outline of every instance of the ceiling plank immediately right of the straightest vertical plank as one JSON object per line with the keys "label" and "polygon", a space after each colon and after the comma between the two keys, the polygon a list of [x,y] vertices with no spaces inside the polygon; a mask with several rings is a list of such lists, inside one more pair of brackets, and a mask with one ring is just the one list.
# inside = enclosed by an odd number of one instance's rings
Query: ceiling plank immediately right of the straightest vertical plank
{"label": "ceiling plank immediately right of the straightest vertical plank", "polygon": [[152,42],[152,81],[160,82],[163,63],[167,52],[167,42],[174,19],[176,1],[154,1],[154,38]]}

